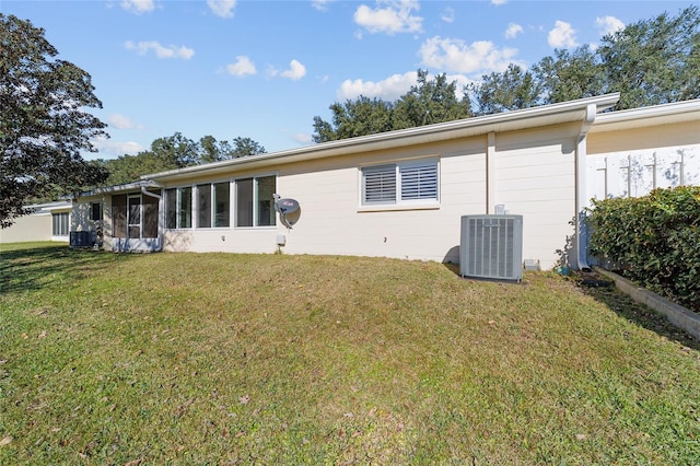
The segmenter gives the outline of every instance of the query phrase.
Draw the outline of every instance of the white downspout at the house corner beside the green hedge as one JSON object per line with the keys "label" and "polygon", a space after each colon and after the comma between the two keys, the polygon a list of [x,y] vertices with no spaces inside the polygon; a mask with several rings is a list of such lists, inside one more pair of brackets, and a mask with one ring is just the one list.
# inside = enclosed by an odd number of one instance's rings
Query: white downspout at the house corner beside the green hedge
{"label": "white downspout at the house corner beside the green hedge", "polygon": [[579,270],[590,271],[588,266],[588,231],[586,226],[586,215],[584,209],[588,207],[587,185],[586,185],[586,155],[587,155],[587,140],[588,131],[593,127],[595,117],[597,115],[597,105],[588,104],[586,106],[586,116],[579,130],[579,137],[576,138],[576,195],[575,195],[575,209],[574,215],[574,241],[575,241],[575,264],[572,266]]}

